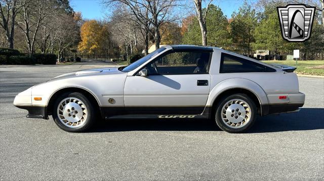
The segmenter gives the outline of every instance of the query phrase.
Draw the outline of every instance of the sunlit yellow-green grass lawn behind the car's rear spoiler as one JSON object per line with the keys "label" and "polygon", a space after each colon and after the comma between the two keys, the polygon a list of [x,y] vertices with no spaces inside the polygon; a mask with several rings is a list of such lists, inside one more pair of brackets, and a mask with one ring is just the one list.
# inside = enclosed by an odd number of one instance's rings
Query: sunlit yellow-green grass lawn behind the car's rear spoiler
{"label": "sunlit yellow-green grass lawn behind the car's rear spoiler", "polygon": [[[267,64],[285,64],[285,65],[296,67],[295,60],[265,60],[262,62]],[[324,60],[306,60],[306,61],[299,60],[295,72],[304,75],[324,76]]]}

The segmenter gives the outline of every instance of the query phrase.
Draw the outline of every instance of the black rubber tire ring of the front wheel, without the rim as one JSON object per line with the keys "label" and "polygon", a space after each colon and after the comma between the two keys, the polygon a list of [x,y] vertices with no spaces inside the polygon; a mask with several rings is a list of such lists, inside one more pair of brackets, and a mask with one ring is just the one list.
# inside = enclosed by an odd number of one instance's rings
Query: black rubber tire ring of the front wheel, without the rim
{"label": "black rubber tire ring of the front wheel, without the rim", "polygon": [[[65,126],[58,118],[57,115],[57,107],[59,106],[60,102],[68,97],[73,97],[73,98],[77,98],[79,100],[81,100],[86,108],[87,108],[87,119],[85,121],[85,123],[82,126],[79,127],[67,127]],[[94,123],[95,121],[95,115],[94,115],[94,107],[92,105],[92,103],[89,101],[88,98],[86,98],[82,93],[65,93],[61,96],[59,96],[53,106],[53,119],[54,122],[56,123],[56,125],[58,125],[61,129],[68,131],[68,132],[82,132],[82,131],[86,131],[88,130]]]}

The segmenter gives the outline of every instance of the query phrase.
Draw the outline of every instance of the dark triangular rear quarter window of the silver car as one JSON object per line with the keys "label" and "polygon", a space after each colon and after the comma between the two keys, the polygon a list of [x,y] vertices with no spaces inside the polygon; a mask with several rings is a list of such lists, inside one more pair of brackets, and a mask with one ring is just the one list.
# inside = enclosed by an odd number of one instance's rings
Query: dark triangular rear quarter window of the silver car
{"label": "dark triangular rear quarter window of the silver car", "polygon": [[222,53],[219,73],[239,72],[275,72],[275,70],[250,60]]}

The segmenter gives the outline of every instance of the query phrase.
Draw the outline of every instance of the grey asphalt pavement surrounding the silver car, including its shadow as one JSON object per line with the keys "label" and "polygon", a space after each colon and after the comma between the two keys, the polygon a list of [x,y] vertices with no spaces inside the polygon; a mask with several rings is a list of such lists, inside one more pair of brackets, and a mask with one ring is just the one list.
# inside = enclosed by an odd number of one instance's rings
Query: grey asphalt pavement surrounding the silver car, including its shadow
{"label": "grey asphalt pavement surrounding the silver car, including its shadow", "polygon": [[106,121],[68,133],[13,106],[34,84],[101,66],[113,65],[0,66],[1,180],[324,179],[324,78],[299,77],[301,111],[260,117],[242,134],[201,120]]}

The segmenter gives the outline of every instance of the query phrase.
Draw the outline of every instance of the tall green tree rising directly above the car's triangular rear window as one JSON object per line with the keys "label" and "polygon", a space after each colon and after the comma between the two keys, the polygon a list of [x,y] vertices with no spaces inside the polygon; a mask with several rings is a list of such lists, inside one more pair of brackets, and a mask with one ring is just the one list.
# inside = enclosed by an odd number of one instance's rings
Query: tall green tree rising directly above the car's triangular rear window
{"label": "tall green tree rising directly above the car's triangular rear window", "polygon": [[236,51],[250,56],[251,43],[254,42],[254,30],[257,23],[255,10],[246,1],[237,13],[232,14],[230,29],[233,43],[238,49]]}

